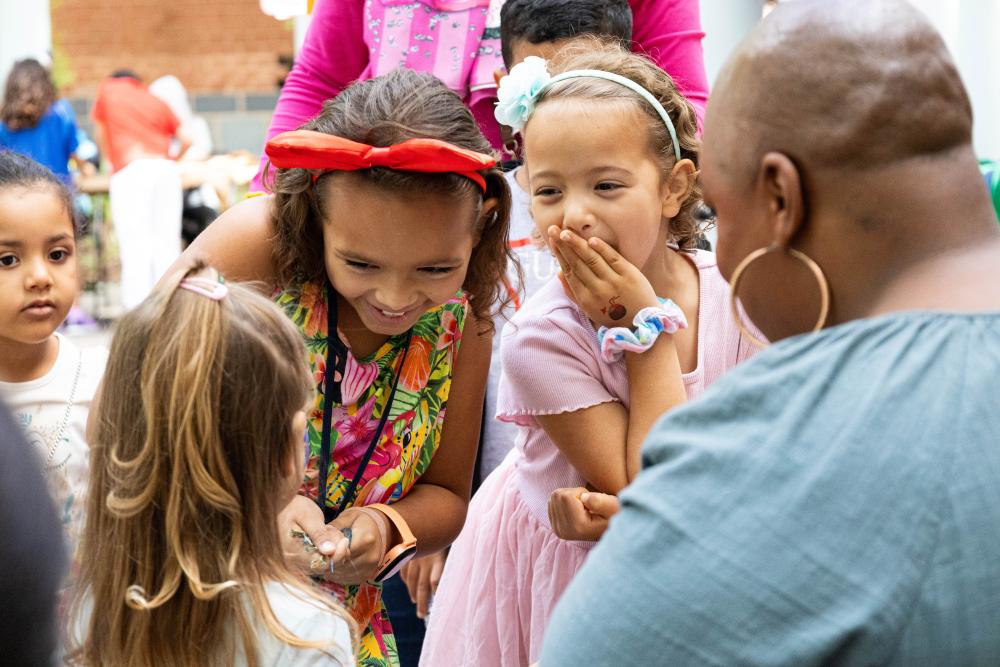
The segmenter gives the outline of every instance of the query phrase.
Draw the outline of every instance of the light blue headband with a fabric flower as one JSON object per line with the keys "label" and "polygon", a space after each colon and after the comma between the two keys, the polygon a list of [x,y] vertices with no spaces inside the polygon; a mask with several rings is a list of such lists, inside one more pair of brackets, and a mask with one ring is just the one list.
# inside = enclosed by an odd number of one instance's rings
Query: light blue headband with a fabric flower
{"label": "light blue headband with a fabric flower", "polygon": [[583,78],[604,79],[617,83],[649,102],[650,106],[659,114],[663,124],[667,126],[667,131],[670,132],[670,141],[674,145],[674,157],[677,160],[681,159],[681,146],[680,142],[677,141],[677,130],[674,129],[670,114],[663,108],[660,101],[632,79],[612,72],[599,69],[575,69],[551,76],[544,60],[537,56],[528,56],[523,62],[515,65],[507,76],[500,79],[494,115],[502,125],[507,125],[514,130],[521,130],[531,114],[534,113],[535,104],[542,93],[560,81]]}

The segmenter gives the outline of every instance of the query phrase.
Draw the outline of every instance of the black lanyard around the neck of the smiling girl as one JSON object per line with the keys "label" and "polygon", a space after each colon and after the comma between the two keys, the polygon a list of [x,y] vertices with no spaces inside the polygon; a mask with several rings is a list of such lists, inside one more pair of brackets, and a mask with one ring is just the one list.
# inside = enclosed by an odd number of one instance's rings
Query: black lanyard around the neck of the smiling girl
{"label": "black lanyard around the neck of the smiling girl", "polygon": [[[323,370],[323,439],[320,443],[319,451],[319,487],[317,491],[319,492],[319,506],[323,509],[323,518],[326,523],[330,523],[340,516],[340,513],[344,511],[348,504],[354,501],[354,494],[357,493],[358,484],[361,483],[361,477],[365,473],[365,468],[368,467],[368,462],[371,461],[372,454],[375,453],[375,447],[378,446],[379,440],[382,439],[382,429],[385,428],[385,422],[389,419],[393,399],[396,397],[396,386],[399,384],[399,375],[403,369],[403,364],[406,363],[406,355],[410,351],[410,339],[413,337],[413,329],[406,332],[406,344],[403,347],[402,358],[399,360],[399,364],[396,366],[395,373],[393,374],[389,400],[385,402],[385,406],[382,408],[382,417],[379,419],[378,428],[375,429],[372,441],[368,444],[364,458],[361,459],[358,471],[354,473],[354,479],[351,480],[351,484],[344,492],[340,506],[334,511],[326,504],[326,496],[329,491],[327,477],[330,469],[330,422],[333,420],[334,403],[342,405],[344,402],[340,384],[347,370],[347,355],[351,351],[347,349],[344,342],[340,340],[340,336],[337,335],[337,293],[333,290],[333,286],[329,281],[326,283],[326,304],[326,368]],[[340,380],[334,380],[334,371],[336,371],[336,375],[340,377]]]}

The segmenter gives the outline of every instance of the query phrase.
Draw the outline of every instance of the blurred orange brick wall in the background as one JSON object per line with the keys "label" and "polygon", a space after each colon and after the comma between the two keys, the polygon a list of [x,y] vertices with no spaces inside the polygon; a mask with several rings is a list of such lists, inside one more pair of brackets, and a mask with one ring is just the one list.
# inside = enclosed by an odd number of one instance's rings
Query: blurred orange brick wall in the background
{"label": "blurred orange brick wall in the background", "polygon": [[[89,97],[121,67],[147,82],[173,74],[191,92],[273,92],[292,54],[290,26],[258,0],[52,0],[64,94]],[[62,77],[60,77],[62,78]]]}

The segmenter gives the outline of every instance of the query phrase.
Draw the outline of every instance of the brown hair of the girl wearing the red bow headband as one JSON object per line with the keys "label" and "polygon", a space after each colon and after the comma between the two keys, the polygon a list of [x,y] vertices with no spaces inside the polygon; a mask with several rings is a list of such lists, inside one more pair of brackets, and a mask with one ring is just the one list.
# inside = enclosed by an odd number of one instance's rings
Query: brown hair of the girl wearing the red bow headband
{"label": "brown hair of the girl wearing the red bow headband", "polygon": [[[472,113],[440,80],[405,68],[384,76],[354,83],[328,100],[318,116],[299,129],[324,132],[371,146],[391,146],[407,139],[431,138],[448,141],[478,153],[495,155],[483,137]],[[270,165],[268,165],[270,171]],[[328,172],[327,172],[328,173]],[[458,174],[426,174],[383,167],[358,172],[369,182],[391,190],[434,192],[456,199],[475,198],[480,229],[479,243],[472,251],[462,288],[470,307],[484,327],[491,314],[507,305],[501,288],[508,262],[515,262],[507,244],[510,190],[497,168],[482,172],[485,194],[475,183]],[[318,180],[313,181],[314,175]],[[266,177],[274,192],[273,218],[277,230],[275,265],[282,281],[318,280],[326,275],[322,221],[331,201],[323,188],[324,173],[310,169],[277,169]],[[482,220],[485,199],[495,198],[494,215]],[[516,265],[516,264],[515,264]]]}

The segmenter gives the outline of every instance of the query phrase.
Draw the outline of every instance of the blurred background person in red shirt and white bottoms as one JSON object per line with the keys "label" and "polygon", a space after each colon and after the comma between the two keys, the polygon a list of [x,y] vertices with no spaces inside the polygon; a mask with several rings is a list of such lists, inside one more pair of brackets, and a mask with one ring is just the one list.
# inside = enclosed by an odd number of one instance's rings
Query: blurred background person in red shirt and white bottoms
{"label": "blurred background person in red shirt and white bottoms", "polygon": [[[183,190],[174,160],[190,140],[180,121],[130,70],[101,82],[91,112],[111,162],[111,218],[121,258],[122,303],[138,305],[181,252]],[[171,156],[171,141],[180,151]]]}

